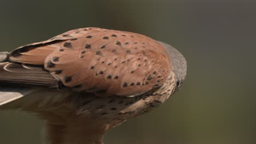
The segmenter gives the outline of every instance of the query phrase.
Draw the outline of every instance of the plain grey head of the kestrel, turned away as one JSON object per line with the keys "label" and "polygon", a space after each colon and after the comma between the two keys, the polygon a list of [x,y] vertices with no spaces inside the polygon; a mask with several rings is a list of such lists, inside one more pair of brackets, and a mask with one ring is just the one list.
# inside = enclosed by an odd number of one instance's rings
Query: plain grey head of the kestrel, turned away
{"label": "plain grey head of the kestrel, turned away", "polygon": [[163,45],[168,53],[170,61],[172,63],[173,72],[175,74],[175,84],[174,84],[174,91],[177,91],[179,87],[182,86],[183,81],[187,75],[187,61],[184,56],[176,50],[174,47],[158,41],[161,45]]}

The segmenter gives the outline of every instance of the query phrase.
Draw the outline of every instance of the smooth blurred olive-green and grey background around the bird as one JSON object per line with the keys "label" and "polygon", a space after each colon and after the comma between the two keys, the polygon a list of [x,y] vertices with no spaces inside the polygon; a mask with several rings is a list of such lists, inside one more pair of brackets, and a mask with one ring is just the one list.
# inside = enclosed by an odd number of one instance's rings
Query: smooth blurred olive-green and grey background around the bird
{"label": "smooth blurred olive-green and grey background around the bird", "polygon": [[[181,91],[110,130],[106,144],[256,143],[255,1],[0,1],[1,51],[70,29],[101,27],[165,41],[183,53]],[[40,143],[43,121],[0,112],[0,143]]]}

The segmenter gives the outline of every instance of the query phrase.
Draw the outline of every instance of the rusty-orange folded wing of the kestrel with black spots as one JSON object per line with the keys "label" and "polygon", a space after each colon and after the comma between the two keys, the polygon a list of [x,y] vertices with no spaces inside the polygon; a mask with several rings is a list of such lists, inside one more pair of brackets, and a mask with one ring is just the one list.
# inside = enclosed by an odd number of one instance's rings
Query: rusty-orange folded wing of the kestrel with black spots
{"label": "rusty-orange folded wing of the kestrel with black spots", "polygon": [[[21,64],[19,68],[6,66],[10,75],[5,79],[0,71],[0,81],[55,85],[60,80],[73,91],[105,97],[128,97],[160,87],[172,69],[164,47],[157,41],[141,34],[101,28],[75,29],[20,47],[10,53],[9,59]],[[26,64],[32,64],[32,69]],[[42,65],[47,71],[33,69],[33,65]],[[10,73],[23,69],[26,71],[19,76],[27,80]],[[49,73],[57,80],[50,80]]]}

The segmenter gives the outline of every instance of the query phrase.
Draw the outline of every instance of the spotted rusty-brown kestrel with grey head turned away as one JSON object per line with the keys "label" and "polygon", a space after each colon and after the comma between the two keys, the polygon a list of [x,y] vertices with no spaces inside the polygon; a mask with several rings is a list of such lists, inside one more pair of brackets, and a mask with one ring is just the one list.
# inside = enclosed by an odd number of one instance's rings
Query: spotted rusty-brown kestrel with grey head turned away
{"label": "spotted rusty-brown kestrel with grey head turned away", "polygon": [[0,110],[45,121],[44,143],[102,144],[183,85],[187,62],[145,35],[88,27],[0,53]]}

